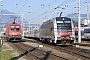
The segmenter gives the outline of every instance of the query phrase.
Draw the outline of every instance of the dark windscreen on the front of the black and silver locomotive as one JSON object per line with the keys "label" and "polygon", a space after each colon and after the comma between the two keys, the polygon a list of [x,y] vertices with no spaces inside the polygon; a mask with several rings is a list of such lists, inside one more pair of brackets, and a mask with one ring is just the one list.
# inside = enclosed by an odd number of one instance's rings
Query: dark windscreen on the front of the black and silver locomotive
{"label": "dark windscreen on the front of the black and silver locomotive", "polygon": [[62,30],[68,30],[68,31],[72,31],[72,26],[71,26],[71,20],[70,19],[64,19],[61,18],[62,20],[56,20],[57,21],[57,29],[58,31],[62,31]]}

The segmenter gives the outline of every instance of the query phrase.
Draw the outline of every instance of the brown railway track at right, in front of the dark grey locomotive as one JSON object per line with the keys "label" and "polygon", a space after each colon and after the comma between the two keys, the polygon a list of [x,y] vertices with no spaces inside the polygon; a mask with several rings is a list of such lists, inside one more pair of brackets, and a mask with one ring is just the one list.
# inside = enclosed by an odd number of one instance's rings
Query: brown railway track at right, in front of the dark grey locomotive
{"label": "brown railway track at right, in front of the dark grey locomotive", "polygon": [[76,48],[74,46],[68,46],[68,47],[56,47],[59,51],[71,54],[73,56],[76,56],[82,60],[90,60],[90,50],[87,49],[81,49]]}

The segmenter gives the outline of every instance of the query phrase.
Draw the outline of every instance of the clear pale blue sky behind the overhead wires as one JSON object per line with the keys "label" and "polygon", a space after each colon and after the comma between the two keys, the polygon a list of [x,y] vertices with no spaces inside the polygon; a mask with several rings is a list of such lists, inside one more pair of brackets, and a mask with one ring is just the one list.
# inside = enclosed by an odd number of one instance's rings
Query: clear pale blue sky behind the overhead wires
{"label": "clear pale blue sky behind the overhead wires", "polygon": [[[87,3],[90,0],[81,0],[81,13],[87,13]],[[2,0],[0,9],[16,14],[24,14],[24,19],[31,22],[41,22],[44,18],[52,19],[78,13],[78,0]]]}

